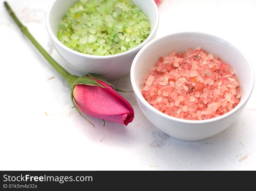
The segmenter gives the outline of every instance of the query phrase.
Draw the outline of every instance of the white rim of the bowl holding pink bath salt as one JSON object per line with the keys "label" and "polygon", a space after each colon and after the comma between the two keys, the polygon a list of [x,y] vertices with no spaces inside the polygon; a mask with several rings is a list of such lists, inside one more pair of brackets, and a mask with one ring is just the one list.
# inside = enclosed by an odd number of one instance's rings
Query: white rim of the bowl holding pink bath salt
{"label": "white rim of the bowl holding pink bath salt", "polygon": [[[250,68],[250,74],[251,74],[251,79],[250,79],[250,87],[249,87],[249,91],[248,91],[248,94],[246,95],[246,97],[243,98],[243,100],[240,100],[240,104],[238,104],[235,108],[233,108],[231,111],[221,115],[221,116],[218,116],[218,117],[214,117],[214,118],[211,118],[211,119],[204,119],[204,120],[189,120],[189,119],[180,119],[180,118],[176,118],[176,117],[172,117],[172,116],[169,116],[167,114],[164,114],[162,112],[160,112],[159,110],[157,110],[156,108],[154,108],[152,105],[150,105],[150,103],[148,103],[143,95],[141,94],[141,90],[139,90],[137,87],[136,87],[136,82],[135,82],[135,77],[134,77],[134,72],[135,72],[135,68],[136,68],[136,63],[137,63],[137,60],[138,58],[140,57],[140,55],[142,54],[142,52],[146,51],[146,49],[152,45],[154,45],[154,43],[156,41],[163,41],[164,39],[166,38],[170,38],[172,36],[175,36],[175,35],[186,35],[186,34],[192,34],[192,35],[205,35],[205,36],[208,36],[208,37],[214,37],[214,38],[218,38],[218,39],[221,39],[227,43],[229,43],[230,45],[232,45],[233,47],[235,47],[239,52],[241,52],[241,54],[243,55],[243,57],[246,59],[246,62],[247,64],[249,65],[249,68]],[[171,50],[170,50],[171,51]],[[250,62],[250,60],[248,59],[248,57],[246,56],[246,54],[240,49],[240,48],[237,48],[237,46],[234,46],[233,43],[230,43],[229,41],[219,37],[219,36],[215,36],[213,34],[208,34],[208,33],[202,33],[202,32],[177,32],[177,33],[172,33],[172,34],[167,34],[167,35],[164,35],[162,37],[159,37],[159,38],[155,38],[153,39],[152,41],[150,41],[149,43],[147,43],[143,48],[141,48],[141,50],[137,53],[137,55],[135,56],[133,62],[132,62],[132,65],[131,65],[131,72],[130,72],[130,78],[131,78],[131,85],[132,85],[132,88],[134,90],[134,93],[136,95],[136,97],[139,99],[139,101],[141,101],[143,103],[143,105],[146,106],[147,109],[150,109],[152,110],[154,113],[166,118],[166,119],[170,119],[172,121],[176,121],[176,122],[180,122],[180,123],[189,123],[189,124],[204,124],[204,123],[212,123],[212,122],[215,122],[215,121],[219,121],[221,119],[224,119],[226,117],[229,117],[230,115],[232,115],[233,113],[237,112],[238,110],[240,110],[248,101],[248,99],[250,98],[252,92],[253,92],[253,87],[254,87],[254,72],[253,72],[253,66],[252,66],[252,63]]]}

